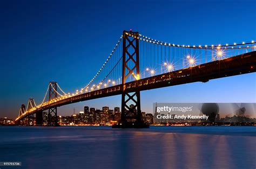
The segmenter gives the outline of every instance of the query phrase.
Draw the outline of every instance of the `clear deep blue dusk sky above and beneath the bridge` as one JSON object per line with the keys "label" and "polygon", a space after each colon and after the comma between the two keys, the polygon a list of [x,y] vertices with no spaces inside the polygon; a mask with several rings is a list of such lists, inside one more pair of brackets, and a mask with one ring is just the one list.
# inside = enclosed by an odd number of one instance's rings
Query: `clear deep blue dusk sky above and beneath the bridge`
{"label": "clear deep blue dusk sky above and beneath the bridge", "polygon": [[[0,117],[15,118],[28,98],[41,103],[50,81],[84,87],[123,30],[177,44],[256,40],[255,1],[1,1]],[[256,73],[141,92],[142,111],[155,102],[256,102]],[[121,96],[58,109],[121,105]]]}

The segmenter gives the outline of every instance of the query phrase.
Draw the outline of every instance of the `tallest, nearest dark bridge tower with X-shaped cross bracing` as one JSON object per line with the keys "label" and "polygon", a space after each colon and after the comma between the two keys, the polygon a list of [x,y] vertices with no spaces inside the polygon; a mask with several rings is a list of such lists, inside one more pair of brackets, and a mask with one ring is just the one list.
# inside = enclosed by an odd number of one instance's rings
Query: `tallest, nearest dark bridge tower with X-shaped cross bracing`
{"label": "tallest, nearest dark bridge tower with X-shaped cross bracing", "polygon": [[125,83],[127,78],[139,79],[139,33],[123,32],[123,70],[122,70],[122,127],[143,126],[142,112],[140,110],[140,92],[128,92]]}

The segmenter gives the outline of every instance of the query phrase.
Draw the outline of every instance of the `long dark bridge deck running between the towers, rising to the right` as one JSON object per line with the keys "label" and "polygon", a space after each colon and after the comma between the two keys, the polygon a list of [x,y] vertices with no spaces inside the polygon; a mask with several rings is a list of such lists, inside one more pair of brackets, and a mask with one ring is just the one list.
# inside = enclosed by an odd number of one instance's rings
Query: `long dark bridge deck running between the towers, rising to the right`
{"label": "long dark bridge deck running between the towers, rising to the right", "polygon": [[[253,51],[242,55],[222,60],[216,60],[213,62],[188,67],[186,69],[181,69],[169,73],[163,73],[161,75],[129,82],[125,84],[125,90],[127,90],[128,92],[134,92],[193,82],[207,82],[211,79],[241,75],[245,73],[252,73],[255,71],[256,51]],[[32,112],[23,114],[23,116],[17,118],[16,120],[21,120],[22,118],[32,113],[48,110],[50,107],[58,107],[71,103],[82,102],[85,100],[122,94],[122,90],[123,85],[116,85],[104,89],[99,89],[96,91],[91,91],[88,93],[79,94],[78,96],[73,96],[63,100],[59,100],[50,105],[46,105]]]}

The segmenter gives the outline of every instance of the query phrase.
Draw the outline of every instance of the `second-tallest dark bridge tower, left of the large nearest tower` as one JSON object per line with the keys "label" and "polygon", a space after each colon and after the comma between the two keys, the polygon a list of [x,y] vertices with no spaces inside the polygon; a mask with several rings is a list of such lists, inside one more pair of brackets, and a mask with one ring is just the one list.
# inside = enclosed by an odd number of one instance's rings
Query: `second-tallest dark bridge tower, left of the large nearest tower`
{"label": "second-tallest dark bridge tower, left of the large nearest tower", "polygon": [[[57,98],[57,82],[49,83],[49,102],[52,99]],[[48,110],[48,125],[58,125],[58,117],[57,117],[57,107],[50,107]]]}

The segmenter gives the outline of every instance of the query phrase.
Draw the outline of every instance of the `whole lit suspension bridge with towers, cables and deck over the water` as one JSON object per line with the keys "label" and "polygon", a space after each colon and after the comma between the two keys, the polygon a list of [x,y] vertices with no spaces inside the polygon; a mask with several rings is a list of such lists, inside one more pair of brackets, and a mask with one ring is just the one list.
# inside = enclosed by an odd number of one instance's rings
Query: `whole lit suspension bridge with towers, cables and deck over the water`
{"label": "whole lit suspension bridge with towers, cables and deck over the water", "polygon": [[[116,126],[144,127],[140,91],[253,73],[255,67],[256,46],[253,40],[180,45],[162,42],[132,30],[123,31],[87,85],[65,92],[57,82],[50,82],[40,104],[36,104],[33,98],[29,98],[27,106],[22,104],[16,123],[43,125],[43,111],[47,111],[46,124],[58,125],[59,106],[122,94],[121,120]],[[134,105],[132,108],[131,104]]]}

